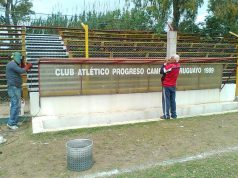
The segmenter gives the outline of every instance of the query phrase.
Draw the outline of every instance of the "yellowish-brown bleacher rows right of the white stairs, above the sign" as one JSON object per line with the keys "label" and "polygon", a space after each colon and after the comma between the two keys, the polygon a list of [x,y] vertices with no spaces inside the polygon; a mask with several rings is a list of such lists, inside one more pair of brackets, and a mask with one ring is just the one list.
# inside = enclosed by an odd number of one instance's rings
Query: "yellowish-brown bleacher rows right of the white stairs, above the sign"
{"label": "yellowish-brown bleacher rows right of the white stairs, above the sign", "polygon": [[[62,30],[60,35],[64,40],[70,57],[85,56],[85,39],[83,30]],[[89,56],[94,57],[165,57],[166,34],[133,31],[89,31]],[[231,42],[230,42],[231,41]],[[236,43],[235,43],[236,42]],[[177,53],[181,58],[229,58],[237,57],[238,40],[227,35],[211,37],[198,34],[178,33]],[[234,60],[220,61],[228,63],[224,66],[223,83],[235,83],[236,62]]]}

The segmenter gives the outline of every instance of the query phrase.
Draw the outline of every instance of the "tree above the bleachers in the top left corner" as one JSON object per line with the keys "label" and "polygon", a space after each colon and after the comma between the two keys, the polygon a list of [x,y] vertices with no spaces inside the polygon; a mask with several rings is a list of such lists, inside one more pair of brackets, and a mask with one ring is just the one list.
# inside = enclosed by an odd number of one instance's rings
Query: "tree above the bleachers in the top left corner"
{"label": "tree above the bleachers in the top left corner", "polygon": [[29,15],[34,14],[31,10],[33,7],[31,0],[0,0],[0,6],[5,9],[5,16],[2,19],[6,25],[18,25]]}

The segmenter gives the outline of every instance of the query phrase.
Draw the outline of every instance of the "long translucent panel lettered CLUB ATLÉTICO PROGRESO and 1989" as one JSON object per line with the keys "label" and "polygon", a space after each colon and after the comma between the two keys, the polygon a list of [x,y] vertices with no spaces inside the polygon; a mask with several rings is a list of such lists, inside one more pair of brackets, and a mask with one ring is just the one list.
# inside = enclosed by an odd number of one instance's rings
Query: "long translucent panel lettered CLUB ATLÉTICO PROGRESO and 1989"
{"label": "long translucent panel lettered CLUB ATL\u00c9TICO PROGRESO and 1989", "polygon": [[[41,96],[161,91],[159,64],[40,63]],[[222,64],[181,64],[177,90],[220,88]]]}

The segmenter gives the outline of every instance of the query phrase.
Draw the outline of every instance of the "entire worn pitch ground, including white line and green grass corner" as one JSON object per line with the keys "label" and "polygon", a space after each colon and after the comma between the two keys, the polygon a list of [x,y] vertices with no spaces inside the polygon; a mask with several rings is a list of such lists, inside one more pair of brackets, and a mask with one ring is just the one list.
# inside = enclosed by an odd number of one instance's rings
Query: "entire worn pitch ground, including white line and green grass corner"
{"label": "entire worn pitch ground, including white line and green grass corner", "polygon": [[[0,126],[0,177],[238,177],[238,113],[32,134]],[[94,165],[67,169],[68,140],[93,140]]]}

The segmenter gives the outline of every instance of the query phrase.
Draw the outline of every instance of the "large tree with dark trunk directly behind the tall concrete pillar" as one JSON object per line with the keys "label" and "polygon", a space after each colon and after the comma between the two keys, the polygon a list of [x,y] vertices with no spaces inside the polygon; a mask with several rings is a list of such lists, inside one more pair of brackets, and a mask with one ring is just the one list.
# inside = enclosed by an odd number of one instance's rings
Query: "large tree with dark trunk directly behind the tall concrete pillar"
{"label": "large tree with dark trunk directly behind the tall concrete pillar", "polygon": [[179,29],[179,24],[188,18],[195,21],[198,8],[203,0],[127,0],[132,2],[134,8],[146,11],[160,29],[164,29],[166,22],[172,14],[172,26]]}

